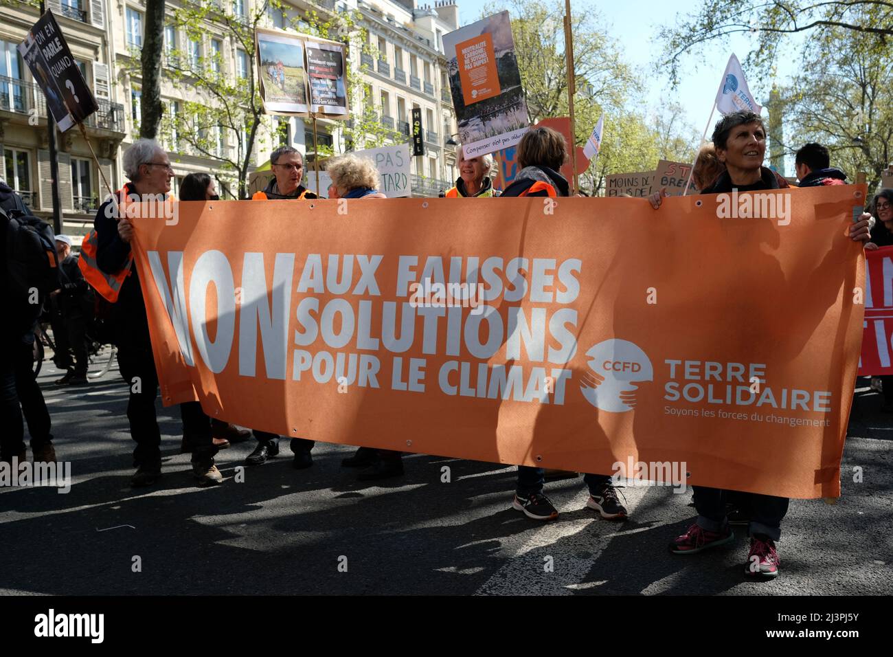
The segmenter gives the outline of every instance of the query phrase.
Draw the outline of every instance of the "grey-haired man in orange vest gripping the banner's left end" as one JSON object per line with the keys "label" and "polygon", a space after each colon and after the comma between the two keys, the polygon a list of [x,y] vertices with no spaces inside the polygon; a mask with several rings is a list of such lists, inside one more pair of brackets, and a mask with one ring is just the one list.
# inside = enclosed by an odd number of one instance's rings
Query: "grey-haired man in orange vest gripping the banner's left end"
{"label": "grey-haired man in orange vest gripping the banner's left end", "polygon": [[[117,295],[108,299],[113,300],[113,340],[118,347],[121,377],[130,388],[127,404],[130,437],[137,442],[133,452],[137,472],[130,483],[145,486],[153,484],[162,474],[161,431],[155,416],[158,375],[149,338],[146,301],[130,250],[134,234],[131,220],[138,215],[139,208],[134,203],[164,198],[171,190],[173,170],[167,153],[154,139],[133,142],[124,152],[123,166],[129,182],[116,193],[117,203],[109,198],[96,213],[96,259],[92,259],[89,249],[82,250],[85,262],[81,270],[87,270],[85,278],[91,284],[97,277],[104,278],[117,289]],[[126,210],[120,211],[122,206]],[[183,432],[191,436],[192,470],[198,484],[221,484],[223,476],[214,465],[217,448],[212,442],[211,423],[200,407],[197,410],[190,407],[189,412],[184,412]]]}

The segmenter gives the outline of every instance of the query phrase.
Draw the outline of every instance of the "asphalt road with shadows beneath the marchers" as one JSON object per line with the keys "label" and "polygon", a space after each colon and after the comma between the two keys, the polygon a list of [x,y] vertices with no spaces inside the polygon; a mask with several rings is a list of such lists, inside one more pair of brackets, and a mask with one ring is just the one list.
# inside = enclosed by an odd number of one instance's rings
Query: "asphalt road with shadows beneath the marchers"
{"label": "asphalt road with shadows beneath the marchers", "polygon": [[83,388],[54,386],[59,375],[47,361],[40,382],[71,492],[0,490],[0,594],[893,593],[893,416],[868,388],[856,392],[842,497],[791,501],[781,576],[750,582],[744,527],[727,548],[667,551],[694,516],[690,494],[669,488],[622,489],[631,518],[612,523],[586,510],[582,479],[550,483],[561,517],[544,525],[512,510],[513,467],[409,455],[405,477],[363,484],[340,466],[353,448],[317,443],[299,471],[283,442],[235,483],[252,441],[221,451],[227,480],[199,489],[178,453],[179,411],[160,404],[164,476],[131,490],[117,371]]}

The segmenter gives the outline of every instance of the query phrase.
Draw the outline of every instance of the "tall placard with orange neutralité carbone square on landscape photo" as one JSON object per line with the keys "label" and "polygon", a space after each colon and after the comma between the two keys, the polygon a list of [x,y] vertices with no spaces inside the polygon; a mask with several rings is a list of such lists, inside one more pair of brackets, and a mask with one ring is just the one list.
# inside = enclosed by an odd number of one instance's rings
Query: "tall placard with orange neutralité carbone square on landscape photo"
{"label": "tall placard with orange neutralit\u00e9 carbone square on landscape photo", "polygon": [[530,123],[508,12],[448,32],[443,44],[464,156],[513,147]]}

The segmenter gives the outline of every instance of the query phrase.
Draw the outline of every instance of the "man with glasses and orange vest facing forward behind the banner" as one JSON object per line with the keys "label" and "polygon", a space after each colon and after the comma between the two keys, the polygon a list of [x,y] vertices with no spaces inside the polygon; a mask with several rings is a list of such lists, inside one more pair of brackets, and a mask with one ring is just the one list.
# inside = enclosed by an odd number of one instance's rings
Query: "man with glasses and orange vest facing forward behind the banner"
{"label": "man with glasses and orange vest facing forward behind the banner", "polygon": [[[319,198],[312,191],[301,186],[304,177],[304,157],[293,147],[280,146],[270,154],[270,165],[274,178],[263,191],[255,192],[251,197],[255,201],[263,200],[302,200]],[[245,462],[249,466],[259,466],[270,457],[279,454],[279,436],[267,431],[255,429],[257,447],[248,454]],[[313,466],[313,441],[304,438],[292,438],[290,447],[294,455],[292,466],[296,470]]]}

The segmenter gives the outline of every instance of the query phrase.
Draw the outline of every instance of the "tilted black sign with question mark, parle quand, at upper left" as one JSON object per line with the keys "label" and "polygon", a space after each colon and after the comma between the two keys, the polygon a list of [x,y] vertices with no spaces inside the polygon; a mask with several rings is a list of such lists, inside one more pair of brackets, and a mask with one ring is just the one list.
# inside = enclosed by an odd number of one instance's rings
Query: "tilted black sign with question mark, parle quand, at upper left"
{"label": "tilted black sign with question mark, parle quand, at upper left", "polygon": [[19,44],[21,58],[46,96],[46,106],[59,126],[67,131],[98,109],[78,64],[65,42],[53,12],[47,10]]}

